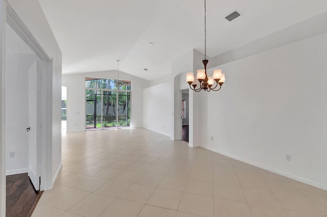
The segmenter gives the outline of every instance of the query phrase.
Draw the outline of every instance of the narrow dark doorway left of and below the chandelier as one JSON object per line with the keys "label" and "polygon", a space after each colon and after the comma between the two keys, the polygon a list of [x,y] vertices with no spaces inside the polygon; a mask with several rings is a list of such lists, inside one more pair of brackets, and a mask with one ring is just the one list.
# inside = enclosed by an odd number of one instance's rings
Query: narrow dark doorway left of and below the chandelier
{"label": "narrow dark doorway left of and below the chandelier", "polygon": [[189,89],[182,90],[182,140],[189,142]]}

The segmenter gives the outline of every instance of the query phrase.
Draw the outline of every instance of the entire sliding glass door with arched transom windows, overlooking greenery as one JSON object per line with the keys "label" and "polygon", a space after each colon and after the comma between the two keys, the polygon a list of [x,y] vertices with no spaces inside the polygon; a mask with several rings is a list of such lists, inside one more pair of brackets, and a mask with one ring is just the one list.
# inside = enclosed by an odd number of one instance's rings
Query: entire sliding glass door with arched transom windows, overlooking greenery
{"label": "entire sliding glass door with arched transom windows, overlooking greenery", "polygon": [[131,82],[112,79],[85,79],[87,130],[130,127]]}

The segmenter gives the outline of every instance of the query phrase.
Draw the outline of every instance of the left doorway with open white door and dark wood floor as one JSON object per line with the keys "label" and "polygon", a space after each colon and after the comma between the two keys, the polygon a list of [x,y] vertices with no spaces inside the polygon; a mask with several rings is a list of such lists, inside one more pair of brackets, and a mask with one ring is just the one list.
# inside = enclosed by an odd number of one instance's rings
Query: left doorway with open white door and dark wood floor
{"label": "left doorway with open white door and dark wood floor", "polygon": [[[41,147],[41,135],[46,127],[44,124],[41,128],[44,121],[42,108],[46,109],[42,105],[44,84],[41,83],[41,73],[47,70],[43,68],[45,61],[17,31],[6,23],[6,212],[10,216],[26,216],[17,214],[17,208],[29,202],[26,209],[32,209],[39,198],[35,192],[41,190],[41,151],[46,149]],[[44,83],[45,80],[46,77]],[[15,181],[20,178],[21,181]],[[11,185],[15,186],[15,192]],[[31,197],[13,197],[25,194],[26,189]]]}

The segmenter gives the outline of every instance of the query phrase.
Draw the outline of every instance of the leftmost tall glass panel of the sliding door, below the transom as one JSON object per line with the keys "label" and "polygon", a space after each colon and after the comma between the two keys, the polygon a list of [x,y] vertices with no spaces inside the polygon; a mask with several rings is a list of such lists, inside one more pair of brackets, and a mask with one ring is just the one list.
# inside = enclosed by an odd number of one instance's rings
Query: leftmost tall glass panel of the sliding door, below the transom
{"label": "leftmost tall glass panel of the sliding door, below the transom", "polygon": [[86,129],[101,128],[101,90],[86,90]]}

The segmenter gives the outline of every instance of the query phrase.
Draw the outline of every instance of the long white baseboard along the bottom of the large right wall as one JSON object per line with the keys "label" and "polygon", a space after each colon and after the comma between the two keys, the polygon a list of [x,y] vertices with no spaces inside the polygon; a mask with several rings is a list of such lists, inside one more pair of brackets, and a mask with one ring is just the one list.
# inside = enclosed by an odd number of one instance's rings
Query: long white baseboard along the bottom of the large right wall
{"label": "long white baseboard along the bottom of the large right wall", "polygon": [[242,162],[245,162],[246,164],[250,164],[252,166],[259,167],[261,169],[268,170],[268,171],[270,171],[272,173],[276,173],[278,175],[282,175],[282,176],[288,177],[290,179],[294,179],[296,181],[303,182],[303,183],[306,183],[306,184],[309,184],[309,185],[312,185],[312,186],[315,186],[315,187],[318,187],[318,188],[321,188],[321,189],[327,191],[327,185],[317,183],[317,182],[314,182],[314,181],[311,181],[311,180],[308,180],[306,178],[302,178],[302,177],[299,177],[299,176],[296,176],[296,175],[292,175],[292,174],[284,172],[284,171],[276,170],[276,169],[267,167],[265,165],[259,164],[258,162],[254,162],[254,161],[251,161],[251,160],[239,157],[239,156],[235,156],[235,155],[232,155],[232,154],[229,154],[229,153],[219,151],[218,149],[215,149],[215,148],[211,148],[211,147],[207,147],[207,146],[201,146],[201,147],[205,148],[207,150],[210,150],[210,151],[225,155],[227,157],[240,160]]}

